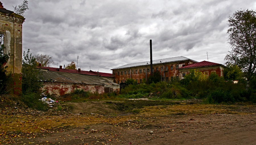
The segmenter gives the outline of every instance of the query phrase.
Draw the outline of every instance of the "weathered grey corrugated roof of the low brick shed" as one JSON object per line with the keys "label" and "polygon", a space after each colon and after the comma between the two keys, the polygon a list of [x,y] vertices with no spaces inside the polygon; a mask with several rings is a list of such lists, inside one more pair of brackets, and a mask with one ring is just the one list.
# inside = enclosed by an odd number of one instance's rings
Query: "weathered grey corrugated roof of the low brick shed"
{"label": "weathered grey corrugated roof of the low brick shed", "polygon": [[42,82],[62,82],[73,84],[101,84],[101,85],[119,85],[100,76],[55,72],[40,70]]}

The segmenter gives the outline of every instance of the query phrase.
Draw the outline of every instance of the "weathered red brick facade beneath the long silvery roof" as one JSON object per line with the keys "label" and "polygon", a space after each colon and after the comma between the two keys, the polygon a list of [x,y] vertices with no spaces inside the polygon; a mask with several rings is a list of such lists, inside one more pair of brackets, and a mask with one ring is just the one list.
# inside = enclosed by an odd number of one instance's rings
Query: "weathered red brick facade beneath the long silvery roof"
{"label": "weathered red brick facade beneath the long silvery roof", "polygon": [[[192,64],[192,62],[189,61],[180,61],[180,62],[174,62],[174,63],[163,63],[163,64],[155,64],[153,65],[153,71],[159,71],[162,75],[162,80],[165,81],[171,80],[171,77],[176,78],[176,76],[179,76],[179,70],[176,69],[176,66],[178,68],[187,66],[189,64]],[[162,71],[161,71],[162,67]],[[130,74],[129,74],[130,71]],[[137,73],[136,73],[137,72]],[[118,75],[119,73],[119,75]],[[143,80],[147,80],[150,76],[150,65],[140,66],[140,67],[131,67],[131,68],[125,68],[125,69],[116,69],[113,70],[114,75],[114,82],[119,84],[121,82],[125,82],[128,78],[133,78],[137,80],[137,83],[142,82]]]}

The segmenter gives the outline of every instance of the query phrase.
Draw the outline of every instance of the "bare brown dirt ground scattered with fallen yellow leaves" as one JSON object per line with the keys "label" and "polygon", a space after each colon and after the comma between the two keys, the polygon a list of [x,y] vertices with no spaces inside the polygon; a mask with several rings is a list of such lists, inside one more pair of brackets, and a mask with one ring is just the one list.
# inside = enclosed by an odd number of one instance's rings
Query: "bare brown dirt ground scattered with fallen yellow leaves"
{"label": "bare brown dirt ground scattered with fallen yellow leaves", "polygon": [[0,111],[0,144],[248,145],[256,144],[255,113],[252,103],[200,100],[65,102],[47,112],[13,105]]}

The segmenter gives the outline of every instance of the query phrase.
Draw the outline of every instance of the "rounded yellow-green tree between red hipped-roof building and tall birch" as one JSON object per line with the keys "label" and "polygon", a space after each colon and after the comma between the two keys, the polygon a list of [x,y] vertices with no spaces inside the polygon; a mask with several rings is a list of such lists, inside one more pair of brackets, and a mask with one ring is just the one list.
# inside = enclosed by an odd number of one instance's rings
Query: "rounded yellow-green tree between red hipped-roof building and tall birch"
{"label": "rounded yellow-green tree between red hipped-roof building and tall birch", "polygon": [[224,69],[224,78],[225,80],[241,80],[243,72],[237,65],[227,64],[227,67]]}

